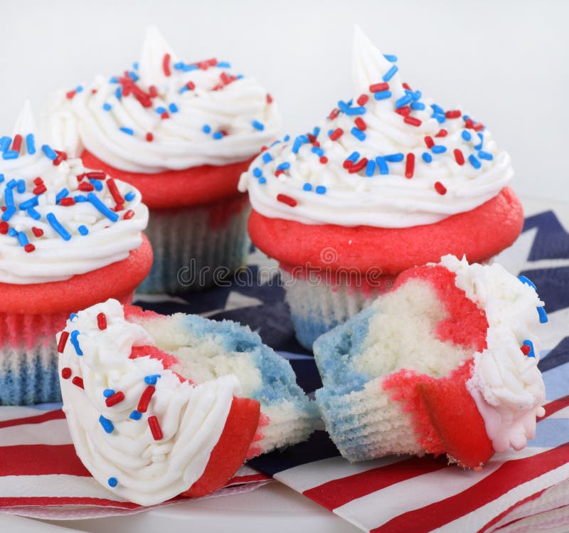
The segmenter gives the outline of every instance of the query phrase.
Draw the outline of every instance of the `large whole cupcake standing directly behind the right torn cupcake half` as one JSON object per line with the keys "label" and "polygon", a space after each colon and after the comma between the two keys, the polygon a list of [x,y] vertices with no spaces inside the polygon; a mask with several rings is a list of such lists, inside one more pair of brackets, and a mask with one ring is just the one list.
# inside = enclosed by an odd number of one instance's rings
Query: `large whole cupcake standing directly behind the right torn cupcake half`
{"label": "large whole cupcake standing directly behind the right torn cupcake half", "polygon": [[461,108],[401,81],[356,28],[356,96],[252,162],[249,234],[280,261],[299,342],[355,315],[413,265],[484,261],[523,224],[509,155]]}

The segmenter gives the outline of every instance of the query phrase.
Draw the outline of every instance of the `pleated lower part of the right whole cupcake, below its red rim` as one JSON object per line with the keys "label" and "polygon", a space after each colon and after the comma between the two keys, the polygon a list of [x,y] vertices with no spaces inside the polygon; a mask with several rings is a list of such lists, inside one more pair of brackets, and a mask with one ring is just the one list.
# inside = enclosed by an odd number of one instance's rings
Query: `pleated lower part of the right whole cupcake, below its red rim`
{"label": "pleated lower part of the right whole cupcake, below its red rim", "polygon": [[347,283],[331,285],[324,279],[316,283],[294,277],[286,269],[282,270],[282,280],[294,332],[300,344],[307,349],[312,349],[312,343],[321,334],[357,315],[385,292],[381,283],[377,288],[368,285],[355,287]]}

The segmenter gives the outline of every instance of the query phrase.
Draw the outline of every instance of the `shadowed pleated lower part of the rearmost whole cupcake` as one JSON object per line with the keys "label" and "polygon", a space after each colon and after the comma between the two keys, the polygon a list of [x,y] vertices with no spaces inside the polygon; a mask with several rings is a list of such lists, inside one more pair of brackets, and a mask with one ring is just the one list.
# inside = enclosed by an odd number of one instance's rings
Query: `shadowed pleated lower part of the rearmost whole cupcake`
{"label": "shadowed pleated lower part of the rearmost whole cupcake", "polygon": [[217,285],[247,263],[246,196],[179,209],[155,209],[145,231],[154,264],[138,292],[188,292]]}

